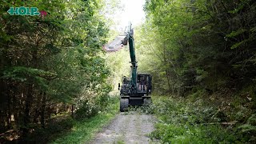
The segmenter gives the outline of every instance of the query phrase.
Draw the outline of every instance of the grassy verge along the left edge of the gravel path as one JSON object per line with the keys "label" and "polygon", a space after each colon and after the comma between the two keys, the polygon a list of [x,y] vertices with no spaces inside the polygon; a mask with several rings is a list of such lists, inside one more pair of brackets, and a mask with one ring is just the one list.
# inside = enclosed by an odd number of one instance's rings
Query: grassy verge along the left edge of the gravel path
{"label": "grassy verge along the left edge of the gravel path", "polygon": [[19,143],[85,143],[93,138],[118,113],[118,97],[110,97],[104,109],[90,117],[71,118],[70,114],[62,114],[46,125],[38,128]]}

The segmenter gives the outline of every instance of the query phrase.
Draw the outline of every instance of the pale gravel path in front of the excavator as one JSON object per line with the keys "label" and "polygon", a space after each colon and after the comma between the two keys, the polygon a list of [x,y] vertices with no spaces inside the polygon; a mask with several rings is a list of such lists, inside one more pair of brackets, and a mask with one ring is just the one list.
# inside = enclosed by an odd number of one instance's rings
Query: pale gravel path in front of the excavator
{"label": "pale gravel path in front of the excavator", "polygon": [[121,113],[91,143],[152,143],[146,135],[153,130],[152,115]]}

